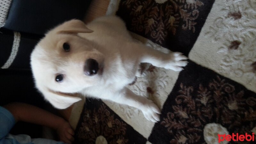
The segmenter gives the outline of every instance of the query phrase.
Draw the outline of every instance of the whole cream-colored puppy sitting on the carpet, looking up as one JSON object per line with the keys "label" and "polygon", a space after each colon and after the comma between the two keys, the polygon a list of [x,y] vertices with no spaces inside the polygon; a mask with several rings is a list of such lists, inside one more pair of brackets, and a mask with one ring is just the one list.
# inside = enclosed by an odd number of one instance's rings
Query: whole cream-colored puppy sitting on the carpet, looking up
{"label": "whole cream-colored puppy sitting on the carpet, looking up", "polygon": [[67,21],[49,31],[31,54],[36,87],[56,108],[68,108],[86,96],[112,100],[139,108],[153,122],[160,110],[126,86],[133,82],[142,62],[181,71],[187,57],[180,52],[165,54],[132,39],[116,16],[98,18],[88,25]]}

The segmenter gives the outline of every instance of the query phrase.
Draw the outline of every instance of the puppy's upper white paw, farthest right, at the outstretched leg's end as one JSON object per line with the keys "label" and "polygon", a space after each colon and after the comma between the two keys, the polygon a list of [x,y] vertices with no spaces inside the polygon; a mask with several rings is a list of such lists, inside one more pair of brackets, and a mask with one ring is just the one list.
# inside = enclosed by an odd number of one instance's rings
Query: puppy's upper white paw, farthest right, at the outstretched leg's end
{"label": "puppy's upper white paw, farthest right, at the outstretched leg's end", "polygon": [[169,58],[164,61],[162,67],[174,71],[181,71],[183,70],[181,67],[185,67],[188,64],[187,59],[181,52],[172,52],[169,54]]}

